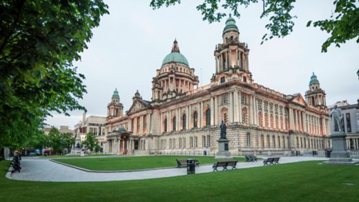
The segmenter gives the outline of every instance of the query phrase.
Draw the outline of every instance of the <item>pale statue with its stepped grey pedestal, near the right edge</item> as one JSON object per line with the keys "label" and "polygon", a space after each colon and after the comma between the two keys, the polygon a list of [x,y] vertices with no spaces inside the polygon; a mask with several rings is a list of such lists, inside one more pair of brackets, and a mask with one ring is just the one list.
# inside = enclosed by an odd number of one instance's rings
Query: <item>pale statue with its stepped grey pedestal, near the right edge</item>
{"label": "pale statue with its stepped grey pedestal, near the right edge", "polygon": [[331,143],[332,152],[329,161],[326,164],[331,165],[353,165],[358,161],[353,161],[347,151],[347,142],[344,129],[344,116],[338,106],[334,106],[329,113],[331,119]]}

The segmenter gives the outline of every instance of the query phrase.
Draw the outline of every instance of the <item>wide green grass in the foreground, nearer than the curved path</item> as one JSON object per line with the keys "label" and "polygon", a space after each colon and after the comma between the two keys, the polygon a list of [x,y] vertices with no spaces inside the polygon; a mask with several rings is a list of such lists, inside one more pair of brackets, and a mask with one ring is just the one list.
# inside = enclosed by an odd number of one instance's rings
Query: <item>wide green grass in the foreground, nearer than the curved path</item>
{"label": "wide green grass in the foreground, nearer than the curved path", "polygon": [[[0,201],[358,201],[359,166],[289,163],[162,179],[12,181],[0,161]],[[353,183],[345,185],[343,183]]]}

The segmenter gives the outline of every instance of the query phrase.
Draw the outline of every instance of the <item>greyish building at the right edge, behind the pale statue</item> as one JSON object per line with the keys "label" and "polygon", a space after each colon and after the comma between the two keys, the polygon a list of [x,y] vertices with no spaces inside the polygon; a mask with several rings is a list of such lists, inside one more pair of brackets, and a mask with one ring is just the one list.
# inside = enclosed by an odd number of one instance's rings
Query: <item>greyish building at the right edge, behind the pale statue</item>
{"label": "greyish building at the right edge, behind the pale statue", "polygon": [[351,105],[347,101],[338,101],[331,106],[330,110],[337,105],[344,116],[344,128],[347,134],[347,149],[359,150],[359,99],[358,103]]}

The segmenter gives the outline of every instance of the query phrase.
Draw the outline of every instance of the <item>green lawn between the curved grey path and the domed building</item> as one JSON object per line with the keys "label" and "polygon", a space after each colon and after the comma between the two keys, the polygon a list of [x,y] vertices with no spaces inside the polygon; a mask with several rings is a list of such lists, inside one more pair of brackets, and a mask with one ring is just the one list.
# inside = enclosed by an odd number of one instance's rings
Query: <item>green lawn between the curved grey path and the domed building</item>
{"label": "green lawn between the curved grey path and the domed building", "polygon": [[[214,163],[213,156],[126,156],[91,159],[56,159],[56,161],[75,165],[88,170],[138,170],[147,168],[165,168],[177,166],[176,159],[197,159],[200,164]],[[244,157],[235,160],[245,161]]]}

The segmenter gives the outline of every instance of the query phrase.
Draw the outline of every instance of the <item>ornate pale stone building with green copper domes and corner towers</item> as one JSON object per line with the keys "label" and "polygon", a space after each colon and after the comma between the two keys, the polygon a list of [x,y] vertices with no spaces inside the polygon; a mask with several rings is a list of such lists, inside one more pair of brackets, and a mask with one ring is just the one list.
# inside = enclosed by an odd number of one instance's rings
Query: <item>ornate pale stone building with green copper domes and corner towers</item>
{"label": "ornate pale stone building with green copper domes and corner towers", "polygon": [[[215,154],[220,123],[227,125],[233,155],[324,154],[330,148],[325,92],[313,74],[305,99],[252,79],[249,48],[231,17],[217,44],[208,85],[173,42],[156,70],[151,101],[135,92],[124,113],[117,90],[108,104],[106,151],[112,154]],[[278,78],[279,79],[279,78]]]}

